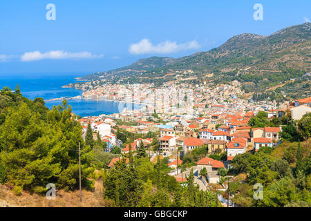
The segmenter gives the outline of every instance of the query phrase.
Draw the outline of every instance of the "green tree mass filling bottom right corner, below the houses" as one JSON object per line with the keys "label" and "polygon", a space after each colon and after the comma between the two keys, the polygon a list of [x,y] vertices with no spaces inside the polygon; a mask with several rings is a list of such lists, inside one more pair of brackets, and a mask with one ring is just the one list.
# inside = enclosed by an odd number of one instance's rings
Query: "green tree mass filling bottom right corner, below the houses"
{"label": "green tree mass filling bottom right corner, below the houses", "polygon": [[[311,157],[307,152],[298,142],[285,142],[276,148],[263,147],[254,155],[236,155],[234,171],[245,173],[247,179],[230,184],[233,202],[240,206],[311,206]],[[263,185],[263,200],[253,198],[256,183]]]}

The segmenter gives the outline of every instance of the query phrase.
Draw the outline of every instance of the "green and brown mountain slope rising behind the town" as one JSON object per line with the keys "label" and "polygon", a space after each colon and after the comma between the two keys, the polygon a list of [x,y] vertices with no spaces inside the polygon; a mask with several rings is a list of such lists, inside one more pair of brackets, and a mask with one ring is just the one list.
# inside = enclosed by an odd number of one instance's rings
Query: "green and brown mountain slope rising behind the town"
{"label": "green and brown mountain slope rising behind the town", "polygon": [[[150,57],[130,66],[82,79],[112,79],[111,83],[155,83],[183,81],[215,84],[238,80],[246,90],[267,90],[311,71],[311,23],[279,30],[272,35],[241,34],[207,52],[173,59]],[[192,74],[187,73],[191,70]],[[212,77],[211,77],[212,76]]]}

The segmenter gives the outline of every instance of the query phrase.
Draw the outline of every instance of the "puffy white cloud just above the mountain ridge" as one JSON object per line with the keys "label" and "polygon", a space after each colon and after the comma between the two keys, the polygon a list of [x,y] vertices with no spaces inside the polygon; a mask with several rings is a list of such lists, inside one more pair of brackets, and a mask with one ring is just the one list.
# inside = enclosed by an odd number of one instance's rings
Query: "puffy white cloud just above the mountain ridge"
{"label": "puffy white cloud just above the mountain ridge", "polygon": [[172,41],[163,41],[160,44],[153,45],[149,39],[142,39],[136,44],[131,44],[129,46],[129,52],[133,55],[141,54],[168,54],[179,52],[182,50],[194,50],[200,48],[197,41],[188,41],[182,44],[176,44]]}

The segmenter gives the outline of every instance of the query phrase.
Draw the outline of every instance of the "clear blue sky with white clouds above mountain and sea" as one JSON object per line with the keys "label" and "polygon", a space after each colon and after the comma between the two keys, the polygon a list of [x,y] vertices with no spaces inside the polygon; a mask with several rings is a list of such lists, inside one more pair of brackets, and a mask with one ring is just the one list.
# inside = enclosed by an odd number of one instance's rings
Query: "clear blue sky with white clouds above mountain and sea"
{"label": "clear blue sky with white clouds above mountain and sea", "polygon": [[0,75],[87,75],[182,57],[310,21],[310,8],[310,0],[1,0]]}

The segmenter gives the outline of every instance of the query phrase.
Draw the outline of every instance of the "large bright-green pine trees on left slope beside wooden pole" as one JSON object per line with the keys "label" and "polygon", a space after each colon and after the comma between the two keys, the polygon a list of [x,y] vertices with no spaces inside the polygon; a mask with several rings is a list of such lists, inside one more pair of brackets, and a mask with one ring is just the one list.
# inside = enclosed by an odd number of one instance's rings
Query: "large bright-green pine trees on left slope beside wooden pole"
{"label": "large bright-green pine trees on left slope beside wooden pole", "polygon": [[41,98],[29,100],[19,88],[0,91],[0,176],[1,183],[42,193],[46,184],[77,189],[78,145],[82,144],[82,184],[91,188],[86,177],[92,168],[85,154],[91,151],[82,140],[82,128],[71,115],[66,101],[48,110]]}

